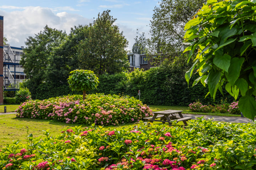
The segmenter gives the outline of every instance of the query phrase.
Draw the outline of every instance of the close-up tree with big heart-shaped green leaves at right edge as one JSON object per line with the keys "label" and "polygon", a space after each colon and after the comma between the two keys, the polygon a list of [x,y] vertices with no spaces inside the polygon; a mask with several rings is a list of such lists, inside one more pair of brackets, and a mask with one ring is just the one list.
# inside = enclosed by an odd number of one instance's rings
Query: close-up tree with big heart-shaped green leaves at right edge
{"label": "close-up tree with big heart-shaped green leaves at right edge", "polygon": [[189,59],[196,55],[186,80],[196,69],[200,77],[193,85],[207,83],[213,98],[226,83],[225,89],[235,99],[241,93],[239,109],[252,120],[256,113],[255,9],[255,1],[208,0],[186,24],[184,36],[190,45],[184,52],[190,51]]}

